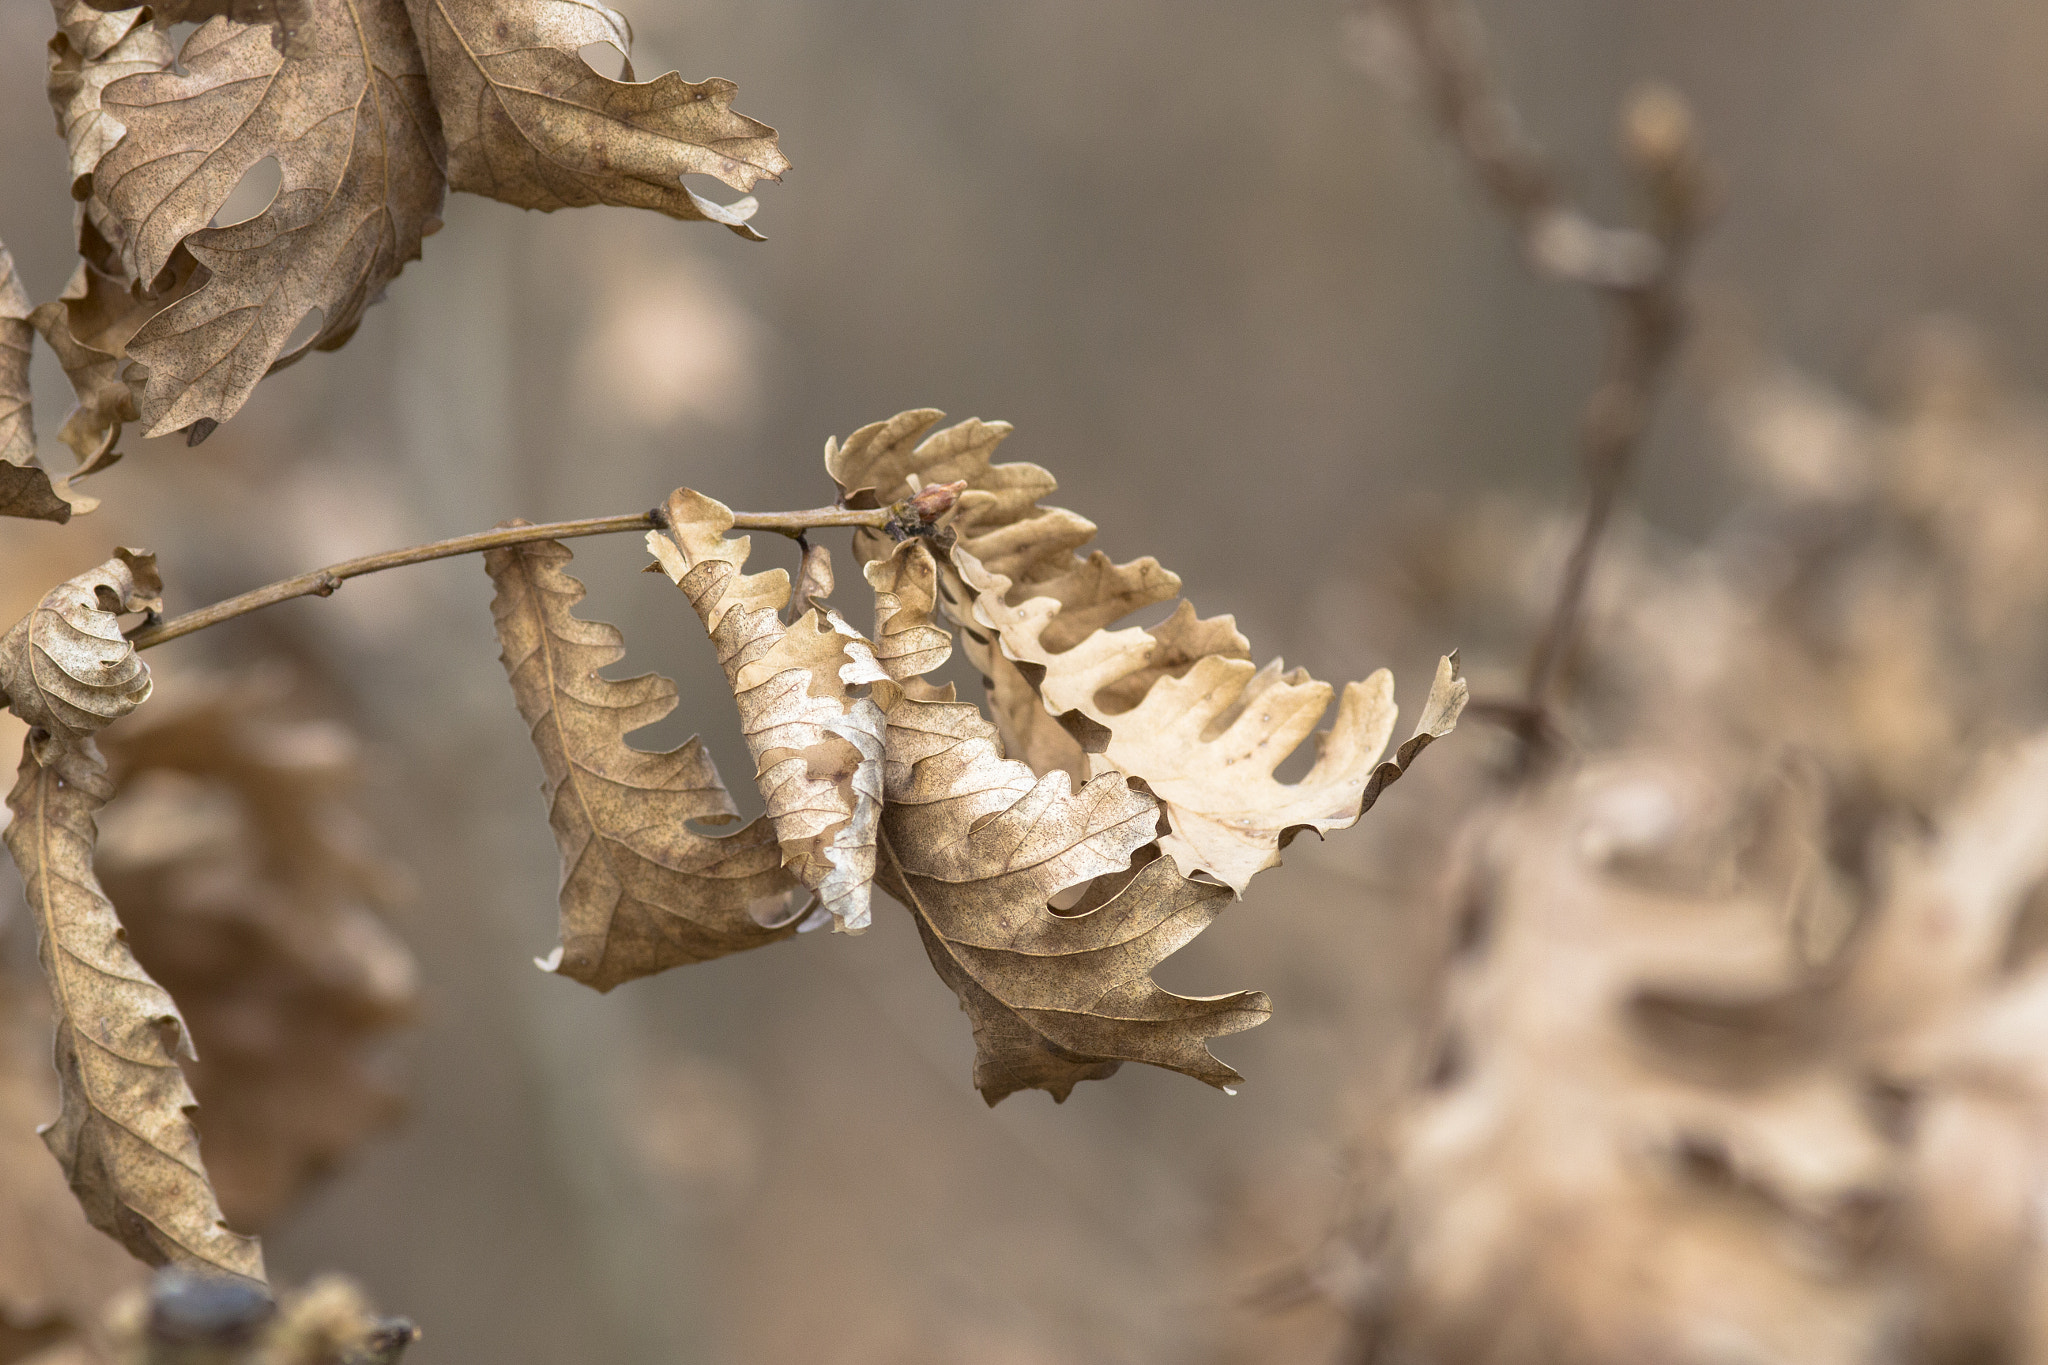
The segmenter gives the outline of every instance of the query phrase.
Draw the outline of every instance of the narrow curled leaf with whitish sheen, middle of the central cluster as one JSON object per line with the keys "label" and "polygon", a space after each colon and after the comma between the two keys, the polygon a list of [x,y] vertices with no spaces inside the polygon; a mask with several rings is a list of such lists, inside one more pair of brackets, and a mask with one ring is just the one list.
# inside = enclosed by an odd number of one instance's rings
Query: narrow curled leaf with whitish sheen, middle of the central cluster
{"label": "narrow curled leaf with whitish sheen, middle of the central cluster", "polygon": [[883,802],[883,714],[868,686],[889,675],[831,608],[811,606],[784,624],[788,573],[741,573],[752,538],[725,536],[733,528],[725,503],[676,489],[664,514],[647,548],[719,653],[782,862],[834,929],[858,933],[872,919]]}

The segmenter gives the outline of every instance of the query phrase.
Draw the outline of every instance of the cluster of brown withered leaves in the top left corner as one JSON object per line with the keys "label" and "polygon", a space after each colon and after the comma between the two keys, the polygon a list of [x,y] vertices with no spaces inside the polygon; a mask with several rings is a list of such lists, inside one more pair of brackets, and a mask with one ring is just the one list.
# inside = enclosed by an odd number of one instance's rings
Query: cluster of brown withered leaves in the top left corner
{"label": "cluster of brown withered leaves in the top left corner", "polygon": [[[758,239],[752,196],[717,205],[682,178],[750,190],[788,168],[727,80],[598,74],[582,49],[629,53],[631,27],[594,2],[51,2],[80,264],[31,309],[0,248],[0,516],[90,512],[72,485],[119,458],[123,424],[203,440],[264,375],[346,344],[440,229],[451,188]],[[199,29],[174,51],[180,23]],[[217,223],[264,164],[270,203]],[[78,465],[55,481],[29,420],[31,327],[78,395],[63,424]]]}

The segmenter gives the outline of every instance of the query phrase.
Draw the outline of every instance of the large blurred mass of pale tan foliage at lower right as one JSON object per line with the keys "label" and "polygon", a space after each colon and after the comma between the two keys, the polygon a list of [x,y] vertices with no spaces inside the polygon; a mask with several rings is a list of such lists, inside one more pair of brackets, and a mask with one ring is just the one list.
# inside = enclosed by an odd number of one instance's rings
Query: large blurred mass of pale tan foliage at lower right
{"label": "large blurred mass of pale tan foliage at lower right", "polygon": [[[2048,426],[1954,323],[1884,370],[1708,348],[1751,493],[1610,561],[1591,755],[1462,835],[1423,1078],[1305,1271],[1358,1359],[2048,1359]],[[1434,610],[1516,618],[1544,524],[1468,526]]]}

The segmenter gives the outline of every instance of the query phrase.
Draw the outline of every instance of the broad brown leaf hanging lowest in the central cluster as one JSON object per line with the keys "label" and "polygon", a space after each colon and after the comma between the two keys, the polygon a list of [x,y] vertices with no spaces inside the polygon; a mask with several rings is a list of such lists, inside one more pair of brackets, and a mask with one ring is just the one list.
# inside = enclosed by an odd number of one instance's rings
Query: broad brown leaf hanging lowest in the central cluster
{"label": "broad brown leaf hanging lowest in the central cluster", "polygon": [[[915,636],[930,602],[915,585],[936,577],[926,544],[868,573],[889,604],[879,632]],[[1063,1101],[1122,1062],[1229,1089],[1239,1076],[1208,1040],[1264,1023],[1268,997],[1190,999],[1151,980],[1229,890],[1149,855],[1159,806],[1122,774],[1075,792],[1065,772],[1006,759],[975,706],[920,700],[913,684],[877,686],[889,718],[877,880],[911,911],[973,1019],[975,1089],[991,1105],[1022,1089]],[[1069,909],[1053,911],[1055,898]]]}

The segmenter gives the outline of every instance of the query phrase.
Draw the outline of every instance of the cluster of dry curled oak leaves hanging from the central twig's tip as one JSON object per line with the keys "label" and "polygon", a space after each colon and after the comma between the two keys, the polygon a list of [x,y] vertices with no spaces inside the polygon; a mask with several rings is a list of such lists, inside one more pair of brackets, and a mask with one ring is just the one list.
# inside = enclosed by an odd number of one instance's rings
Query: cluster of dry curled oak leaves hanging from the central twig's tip
{"label": "cluster of dry curled oak leaves hanging from the central twig's tip", "polygon": [[[856,536],[874,591],[872,639],[825,606],[831,573],[819,546],[795,587],[782,569],[745,573],[750,538],[733,538],[733,514],[702,493],[674,493],[664,528],[647,536],[717,651],[756,761],[768,812],[733,835],[649,819],[731,821],[733,802],[696,741],[662,755],[625,745],[629,731],[668,714],[674,688],[596,675],[618,659],[618,634],[569,614],[582,596],[561,573],[569,551],[539,542],[487,557],[506,671],[563,849],[563,945],[547,966],[610,988],[805,927],[858,933],[879,884],[911,911],[958,995],[989,1103],[1020,1089],[1065,1099],[1126,1060],[1223,1087],[1237,1072],[1206,1042],[1264,1021],[1266,997],[1186,999],[1153,984],[1151,968],[1257,866],[1278,862],[1292,833],[1356,821],[1450,729],[1464,684],[1446,659],[1421,726],[1389,763],[1378,757],[1393,729],[1391,679],[1354,684],[1335,729],[1317,737],[1323,761],[1300,784],[1274,782],[1331,690],[1278,663],[1243,663],[1249,647],[1231,620],[1198,622],[1188,606],[1155,630],[1108,630],[1171,598],[1178,579],[1153,561],[1079,561],[1073,548],[1094,528],[1036,505],[1051,475],[991,463],[1008,426],[934,432],[938,417],[903,413],[825,448],[846,505],[926,497],[934,510],[930,526],[909,522],[920,534]],[[977,548],[1020,575],[1024,565],[1044,571],[1008,598],[977,598],[969,583],[987,581]],[[1044,626],[1008,632],[1014,614],[1063,614],[1063,649],[1047,647]],[[995,724],[930,681],[952,649],[942,620],[961,628],[989,679]],[[1118,663],[1094,684],[1069,677],[1069,655],[1110,653]],[[1196,684],[1182,688],[1188,677]],[[1120,704],[1106,700],[1112,692]],[[1196,763],[1147,749],[1133,710],[1212,747]],[[1255,757],[1235,788],[1221,772],[1233,757]],[[1229,847],[1235,862],[1217,866],[1241,880],[1206,876],[1180,831]],[[772,898],[791,884],[803,900]]]}

